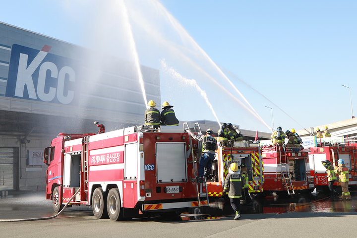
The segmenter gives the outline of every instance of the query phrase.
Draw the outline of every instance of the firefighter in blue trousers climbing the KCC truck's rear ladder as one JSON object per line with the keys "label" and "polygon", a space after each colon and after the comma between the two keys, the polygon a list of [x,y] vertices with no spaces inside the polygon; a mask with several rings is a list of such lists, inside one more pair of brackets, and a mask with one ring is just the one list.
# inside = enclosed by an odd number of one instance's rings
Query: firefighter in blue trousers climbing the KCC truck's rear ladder
{"label": "firefighter in blue trousers climbing the KCC truck's rear ladder", "polygon": [[[202,158],[198,165],[198,177],[197,182],[204,182],[204,176],[208,177],[211,175],[212,170],[212,162],[216,158],[215,150],[218,149],[217,140],[212,136],[213,131],[211,129],[206,130],[206,135],[195,135],[191,131],[189,134],[192,136],[193,139],[197,141],[202,141],[203,148],[202,148]],[[207,169],[206,175],[205,167]]]}

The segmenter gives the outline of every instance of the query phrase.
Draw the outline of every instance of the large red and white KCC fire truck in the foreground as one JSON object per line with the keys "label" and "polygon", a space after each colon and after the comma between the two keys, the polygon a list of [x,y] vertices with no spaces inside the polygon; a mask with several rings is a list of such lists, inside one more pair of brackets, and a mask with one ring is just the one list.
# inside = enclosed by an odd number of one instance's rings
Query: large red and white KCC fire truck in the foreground
{"label": "large red and white KCC fire truck in the foreground", "polygon": [[135,217],[139,210],[177,215],[209,206],[205,183],[195,179],[191,148],[197,146],[179,126],[60,133],[44,150],[46,198],[57,212],[70,201],[91,205],[96,218],[114,221]]}

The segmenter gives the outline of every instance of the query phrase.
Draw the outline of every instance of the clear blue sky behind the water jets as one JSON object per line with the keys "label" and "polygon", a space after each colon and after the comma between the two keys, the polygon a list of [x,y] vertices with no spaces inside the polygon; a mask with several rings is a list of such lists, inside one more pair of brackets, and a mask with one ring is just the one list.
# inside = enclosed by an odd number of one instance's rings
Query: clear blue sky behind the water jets
{"label": "clear blue sky behind the water jets", "polygon": [[[102,28],[120,18],[104,18],[101,2],[2,0],[6,11],[0,21],[85,47],[93,47],[90,38],[101,35],[101,47],[113,48],[124,35]],[[269,132],[272,114],[265,106],[273,109],[274,127],[283,130],[351,119],[349,89],[342,85],[351,88],[355,109],[356,1],[125,2],[140,63],[160,70],[162,102],[175,106],[179,120],[216,118],[197,90],[167,72],[164,59],[183,78],[196,80],[221,122]],[[158,10],[161,5],[167,12]],[[230,96],[246,105],[212,62],[251,86],[226,73],[265,123]]]}

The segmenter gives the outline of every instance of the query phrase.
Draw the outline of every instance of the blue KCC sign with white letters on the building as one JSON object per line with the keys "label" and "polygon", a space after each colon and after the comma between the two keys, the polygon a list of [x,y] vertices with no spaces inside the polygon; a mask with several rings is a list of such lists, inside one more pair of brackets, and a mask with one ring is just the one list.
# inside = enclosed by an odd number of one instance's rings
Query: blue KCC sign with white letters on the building
{"label": "blue KCC sign with white letters on the building", "polygon": [[45,45],[39,51],[12,45],[6,97],[76,104],[76,95],[79,95],[77,63],[49,54],[51,48]]}

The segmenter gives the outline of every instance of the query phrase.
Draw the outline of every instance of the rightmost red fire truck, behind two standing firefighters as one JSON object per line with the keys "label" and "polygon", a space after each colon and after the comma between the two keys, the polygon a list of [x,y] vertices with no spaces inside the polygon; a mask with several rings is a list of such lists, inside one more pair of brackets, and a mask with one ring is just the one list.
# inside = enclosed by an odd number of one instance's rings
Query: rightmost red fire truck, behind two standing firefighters
{"label": "rightmost red fire truck, behind two standing firefighters", "polygon": [[[349,169],[349,185],[356,185],[357,147],[354,144],[349,144],[348,142],[335,144],[321,143],[321,146],[310,147],[309,161],[311,176],[315,178],[317,192],[329,192],[326,168],[322,165],[321,161],[328,160],[335,167],[339,159],[343,159],[346,167]],[[340,186],[341,183],[335,182],[335,185]]]}

